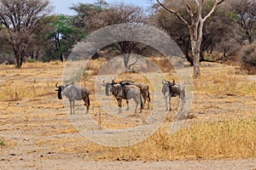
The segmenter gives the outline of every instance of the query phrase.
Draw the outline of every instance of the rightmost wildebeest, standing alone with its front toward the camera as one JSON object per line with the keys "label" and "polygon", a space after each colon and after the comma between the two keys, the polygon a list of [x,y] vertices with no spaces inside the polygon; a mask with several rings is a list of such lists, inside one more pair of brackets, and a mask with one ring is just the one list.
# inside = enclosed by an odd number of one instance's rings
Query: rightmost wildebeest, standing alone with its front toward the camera
{"label": "rightmost wildebeest, standing alone with its front toward the camera", "polygon": [[169,111],[172,111],[171,98],[178,96],[181,99],[181,102],[183,102],[185,99],[184,86],[180,83],[177,84],[174,79],[172,79],[172,82],[164,80],[162,84],[162,93],[166,99],[166,111],[168,111],[168,104],[170,105]]}

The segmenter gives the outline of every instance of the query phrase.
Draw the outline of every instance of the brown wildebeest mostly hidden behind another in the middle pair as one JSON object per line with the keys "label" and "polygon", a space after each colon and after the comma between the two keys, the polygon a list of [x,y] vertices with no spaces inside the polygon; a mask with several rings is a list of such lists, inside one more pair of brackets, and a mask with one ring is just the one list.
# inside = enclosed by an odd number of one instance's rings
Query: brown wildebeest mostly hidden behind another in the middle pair
{"label": "brown wildebeest mostly hidden behind another in the middle pair", "polygon": [[[112,83],[116,83],[116,82],[112,82]],[[141,94],[143,96],[143,108],[144,105],[146,104],[146,101],[148,102],[148,109],[149,109],[149,102],[150,102],[150,94],[149,94],[149,88],[148,85],[143,83],[143,82],[131,82],[131,81],[121,81],[118,82],[121,85],[135,85],[138,88],[140,88],[141,90]],[[109,87],[110,87],[111,83],[110,82],[105,82],[103,81],[102,86],[105,86],[105,94],[109,95],[108,91],[109,91]]]}

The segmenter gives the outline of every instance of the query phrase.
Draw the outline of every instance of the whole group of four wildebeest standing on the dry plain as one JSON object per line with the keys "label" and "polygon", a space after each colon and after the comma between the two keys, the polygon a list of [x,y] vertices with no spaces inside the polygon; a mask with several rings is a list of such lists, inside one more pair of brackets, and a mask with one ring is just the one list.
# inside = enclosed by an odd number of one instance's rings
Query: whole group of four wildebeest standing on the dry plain
{"label": "whole group of four wildebeest standing on the dry plain", "polygon": [[[162,82],[162,93],[166,99],[166,111],[172,111],[171,108],[171,98],[178,96],[181,101],[185,99],[184,86],[181,83],[176,83],[174,79],[172,82],[164,80]],[[142,112],[145,103],[150,102],[150,94],[148,85],[143,82],[131,82],[131,81],[122,81],[122,82],[105,82],[103,81],[102,86],[105,87],[105,94],[109,95],[109,91],[113,94],[114,98],[117,99],[119,106],[119,113],[122,112],[122,99],[126,100],[127,109],[129,110],[129,99],[133,99],[136,108],[134,113],[137,112],[138,106],[139,112]],[[66,84],[65,86],[58,86],[58,82],[55,84],[57,88],[55,91],[58,92],[58,99],[62,99],[62,95],[65,95],[70,102],[71,114],[75,114],[74,103],[75,100],[84,100],[84,105],[86,106],[86,113],[89,111],[90,98],[89,90],[87,88],[77,86],[74,83]]]}

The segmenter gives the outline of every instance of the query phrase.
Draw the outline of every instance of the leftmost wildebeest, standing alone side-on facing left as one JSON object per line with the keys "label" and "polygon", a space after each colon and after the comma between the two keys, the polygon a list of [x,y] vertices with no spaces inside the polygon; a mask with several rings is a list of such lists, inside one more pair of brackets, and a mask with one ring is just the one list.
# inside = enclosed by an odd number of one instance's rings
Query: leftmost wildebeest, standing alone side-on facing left
{"label": "leftmost wildebeest, standing alone side-on facing left", "polygon": [[76,86],[75,84],[68,84],[66,86],[58,86],[58,82],[55,84],[58,88],[55,91],[58,92],[58,99],[62,99],[62,95],[65,95],[70,103],[70,113],[75,114],[74,103],[75,100],[84,100],[84,105],[86,105],[86,112],[89,111],[90,99],[89,90],[87,88]]}

